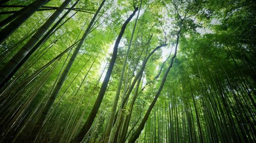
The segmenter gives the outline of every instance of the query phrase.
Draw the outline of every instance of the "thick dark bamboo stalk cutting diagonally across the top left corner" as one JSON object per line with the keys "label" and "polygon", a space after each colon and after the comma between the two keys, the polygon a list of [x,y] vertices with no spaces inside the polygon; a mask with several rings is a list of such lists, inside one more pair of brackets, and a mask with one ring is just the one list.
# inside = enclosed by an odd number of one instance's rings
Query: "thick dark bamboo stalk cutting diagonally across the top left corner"
{"label": "thick dark bamboo stalk cutting diagonally across the top left corner", "polygon": [[35,11],[50,0],[37,0],[26,11],[0,31],[0,44],[2,44],[20,25],[22,25]]}

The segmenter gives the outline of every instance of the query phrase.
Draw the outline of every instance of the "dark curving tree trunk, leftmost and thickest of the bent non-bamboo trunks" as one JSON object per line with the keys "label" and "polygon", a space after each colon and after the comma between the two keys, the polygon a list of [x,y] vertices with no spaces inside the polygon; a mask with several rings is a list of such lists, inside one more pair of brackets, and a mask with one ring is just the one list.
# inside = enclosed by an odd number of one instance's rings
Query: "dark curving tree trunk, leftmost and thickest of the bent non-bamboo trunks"
{"label": "dark curving tree trunk, leftmost and thickest of the bent non-bamboo trunks", "polygon": [[80,142],[83,139],[84,135],[86,135],[87,132],[89,131],[89,129],[91,128],[92,123],[93,123],[93,121],[94,121],[94,119],[95,119],[95,117],[97,115],[98,110],[99,110],[99,106],[101,104],[101,101],[102,101],[102,99],[104,97],[106,88],[108,87],[110,76],[111,76],[111,73],[113,71],[114,64],[115,64],[115,61],[116,61],[116,58],[117,58],[117,49],[118,49],[120,40],[121,40],[121,38],[123,36],[125,27],[130,22],[130,20],[133,18],[133,16],[135,15],[135,13],[137,11],[138,11],[138,8],[135,8],[135,10],[130,15],[130,17],[127,18],[126,21],[123,23],[121,31],[120,31],[120,33],[119,33],[119,35],[117,37],[117,40],[116,40],[116,43],[115,43],[115,46],[114,46],[114,49],[113,49],[113,55],[112,55],[112,58],[111,58],[111,61],[110,61],[110,65],[109,65],[108,71],[106,72],[106,76],[105,76],[105,78],[103,80],[103,83],[101,85],[98,97],[97,97],[97,99],[96,99],[96,101],[94,103],[92,111],[91,111],[91,113],[90,113],[86,123],[83,125],[82,129],[80,130],[80,132],[74,137],[74,139],[71,142]]}

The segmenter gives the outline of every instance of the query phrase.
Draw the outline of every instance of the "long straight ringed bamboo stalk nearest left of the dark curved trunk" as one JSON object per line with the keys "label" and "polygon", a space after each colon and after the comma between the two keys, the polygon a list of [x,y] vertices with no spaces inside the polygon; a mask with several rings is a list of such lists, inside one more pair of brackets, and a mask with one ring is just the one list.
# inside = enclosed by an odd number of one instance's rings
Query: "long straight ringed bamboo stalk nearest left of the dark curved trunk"
{"label": "long straight ringed bamboo stalk nearest left of the dark curved trunk", "polygon": [[73,54],[72,54],[72,56],[71,56],[71,58],[70,58],[70,60],[69,60],[69,62],[67,64],[65,70],[62,72],[62,74],[61,74],[61,76],[60,76],[60,78],[59,78],[59,80],[58,80],[58,82],[56,84],[55,89],[53,90],[53,92],[52,92],[50,98],[48,99],[44,109],[42,110],[41,115],[39,116],[39,118],[36,121],[36,124],[35,124],[35,126],[33,128],[34,131],[32,132],[34,134],[32,135],[31,140],[33,140],[36,137],[36,135],[38,134],[39,130],[42,127],[42,124],[45,122],[46,117],[47,117],[47,115],[48,115],[48,113],[49,113],[49,111],[50,111],[50,109],[51,109],[55,99],[57,98],[57,95],[58,95],[61,87],[62,87],[62,84],[65,81],[65,79],[66,79],[66,77],[68,75],[68,72],[69,72],[71,66],[73,65],[74,60],[76,59],[76,56],[77,56],[77,54],[78,54],[78,52],[79,52],[79,50],[80,50],[84,40],[86,39],[86,37],[90,33],[92,25],[93,25],[97,15],[98,15],[99,11],[101,10],[101,8],[102,8],[104,3],[105,3],[105,0],[103,0],[102,3],[100,4],[97,12],[95,13],[95,15],[93,16],[92,20],[90,21],[90,23],[89,23],[89,25],[88,25],[88,27],[86,29],[86,32],[84,32],[84,34],[83,34],[81,40],[79,41],[75,51],[73,52]]}

